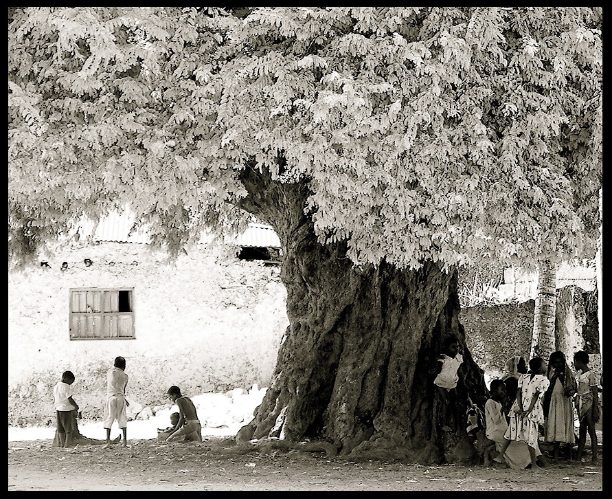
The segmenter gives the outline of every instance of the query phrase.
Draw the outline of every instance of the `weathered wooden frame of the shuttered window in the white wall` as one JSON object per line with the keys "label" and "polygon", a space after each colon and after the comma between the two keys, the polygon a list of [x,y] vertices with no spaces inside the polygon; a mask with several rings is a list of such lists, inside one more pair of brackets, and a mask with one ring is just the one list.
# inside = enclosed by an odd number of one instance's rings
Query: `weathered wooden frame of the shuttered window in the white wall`
{"label": "weathered wooden frame of the shuttered window in the white wall", "polygon": [[[73,302],[73,296],[75,292],[78,293],[87,293],[87,292],[92,292],[92,293],[101,293],[101,296],[104,297],[106,296],[105,293],[108,292],[119,292],[119,291],[127,291],[128,293],[130,293],[130,308],[131,311],[129,312],[120,312],[120,311],[116,311],[116,312],[106,312],[106,311],[73,311],[73,307],[74,307],[74,302]],[[104,299],[104,298],[102,298]],[[80,340],[135,340],[136,339],[136,313],[135,313],[135,300],[134,300],[134,288],[133,287],[75,287],[75,288],[70,288],[68,291],[68,300],[69,300],[69,305],[68,305],[68,332],[69,332],[69,339],[70,341],[80,341]],[[86,303],[87,303],[87,298],[86,298]],[[104,305],[102,305],[102,309],[104,309]],[[105,322],[108,320],[108,324],[109,324],[109,331],[111,333],[111,335],[109,336],[95,336],[93,334],[95,334],[95,328],[91,328],[91,329],[87,329],[86,326],[86,330],[90,331],[92,333],[92,335],[89,336],[77,336],[73,334],[73,325],[74,325],[74,320],[75,318],[78,317],[83,317],[83,318],[100,318],[101,319],[101,323],[100,323],[100,332],[102,333],[104,331],[104,324]],[[130,335],[122,335],[119,336],[117,335],[117,331],[118,331],[118,322],[121,319],[124,319],[129,317],[131,318],[131,320],[129,321],[129,329],[131,329],[131,334]],[[85,322],[85,324],[87,324],[87,322]],[[113,332],[115,333],[115,335],[112,335]]]}

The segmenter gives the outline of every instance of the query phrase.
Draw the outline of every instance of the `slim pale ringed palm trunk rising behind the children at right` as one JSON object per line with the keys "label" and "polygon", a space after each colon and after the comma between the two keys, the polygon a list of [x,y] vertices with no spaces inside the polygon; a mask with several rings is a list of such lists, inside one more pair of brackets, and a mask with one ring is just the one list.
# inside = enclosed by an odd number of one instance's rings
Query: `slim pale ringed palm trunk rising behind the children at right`
{"label": "slim pale ringed palm trunk rising behind the children at right", "polygon": [[530,358],[542,357],[546,362],[550,354],[556,350],[554,327],[557,299],[556,270],[554,263],[543,260],[538,273]]}

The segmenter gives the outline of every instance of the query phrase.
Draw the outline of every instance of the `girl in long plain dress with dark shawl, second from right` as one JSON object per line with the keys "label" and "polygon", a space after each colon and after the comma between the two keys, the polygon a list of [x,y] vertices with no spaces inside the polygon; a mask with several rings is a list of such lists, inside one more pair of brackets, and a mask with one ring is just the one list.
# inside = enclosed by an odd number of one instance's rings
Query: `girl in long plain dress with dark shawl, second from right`
{"label": "girl in long plain dress with dark shawl, second from right", "polygon": [[576,379],[565,361],[565,354],[556,351],[550,354],[547,377],[550,381],[544,395],[544,440],[554,442],[553,461],[558,461],[559,447],[564,443],[569,448],[574,445],[574,403]]}

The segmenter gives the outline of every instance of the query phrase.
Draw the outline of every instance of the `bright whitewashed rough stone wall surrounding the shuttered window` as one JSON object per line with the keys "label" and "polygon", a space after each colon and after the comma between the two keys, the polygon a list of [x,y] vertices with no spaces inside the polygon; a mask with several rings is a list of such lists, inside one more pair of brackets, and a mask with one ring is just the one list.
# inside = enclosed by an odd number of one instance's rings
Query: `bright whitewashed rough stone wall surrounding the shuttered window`
{"label": "bright whitewashed rough stone wall surrounding the shuttered window", "polygon": [[[76,375],[84,416],[101,417],[104,373],[117,355],[126,357],[128,397],[143,406],[163,403],[171,385],[190,395],[269,386],[288,325],[278,267],[205,246],[167,264],[147,245],[122,243],[60,249],[48,261],[9,275],[9,425],[52,417],[64,370]],[[136,338],[70,340],[75,287],[133,287]]]}

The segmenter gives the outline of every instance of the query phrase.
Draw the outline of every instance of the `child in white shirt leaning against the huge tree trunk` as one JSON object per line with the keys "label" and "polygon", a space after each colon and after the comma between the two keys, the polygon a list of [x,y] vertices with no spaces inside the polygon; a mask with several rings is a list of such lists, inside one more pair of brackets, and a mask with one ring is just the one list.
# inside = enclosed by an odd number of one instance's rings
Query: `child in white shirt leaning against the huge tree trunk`
{"label": "child in white shirt leaning against the huge tree trunk", "polygon": [[463,362],[463,356],[459,353],[459,340],[456,336],[449,336],[442,344],[442,354],[436,359],[435,372],[438,374],[433,384],[438,386],[438,392],[442,399],[442,430],[445,432],[457,428],[460,416],[457,414],[457,382],[459,375],[457,371]]}

